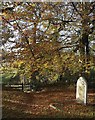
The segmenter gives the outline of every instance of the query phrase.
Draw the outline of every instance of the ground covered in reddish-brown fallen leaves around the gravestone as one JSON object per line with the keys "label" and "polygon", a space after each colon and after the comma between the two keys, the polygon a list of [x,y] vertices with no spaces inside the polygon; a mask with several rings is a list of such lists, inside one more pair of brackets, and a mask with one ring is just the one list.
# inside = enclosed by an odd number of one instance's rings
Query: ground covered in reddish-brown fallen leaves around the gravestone
{"label": "ground covered in reddish-brown fallen leaves around the gravestone", "polygon": [[45,88],[24,93],[3,90],[3,118],[93,118],[95,91],[88,90],[88,104],[76,103],[75,89]]}

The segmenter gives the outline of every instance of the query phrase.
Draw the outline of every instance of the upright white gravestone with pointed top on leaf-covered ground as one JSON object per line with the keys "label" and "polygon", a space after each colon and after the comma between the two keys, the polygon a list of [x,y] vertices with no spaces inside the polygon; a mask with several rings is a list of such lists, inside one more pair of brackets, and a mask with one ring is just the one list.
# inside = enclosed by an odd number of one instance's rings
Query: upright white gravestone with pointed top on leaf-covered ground
{"label": "upright white gravestone with pointed top on leaf-covered ground", "polygon": [[83,77],[77,80],[76,100],[78,103],[87,104],[87,82]]}

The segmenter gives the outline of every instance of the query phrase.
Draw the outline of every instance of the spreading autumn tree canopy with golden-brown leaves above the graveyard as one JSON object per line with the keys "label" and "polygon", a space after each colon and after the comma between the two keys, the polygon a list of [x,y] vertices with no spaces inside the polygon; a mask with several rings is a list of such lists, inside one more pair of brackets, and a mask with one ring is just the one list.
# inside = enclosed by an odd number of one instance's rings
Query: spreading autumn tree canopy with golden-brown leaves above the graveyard
{"label": "spreading autumn tree canopy with golden-brown leaves above the graveyard", "polygon": [[7,62],[21,70],[23,66],[29,78],[35,71],[50,79],[66,70],[88,72],[95,59],[94,6],[94,2],[3,3],[2,49]]}

